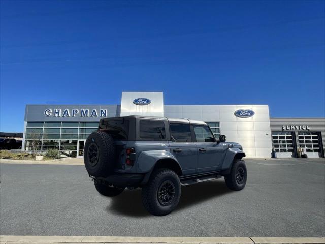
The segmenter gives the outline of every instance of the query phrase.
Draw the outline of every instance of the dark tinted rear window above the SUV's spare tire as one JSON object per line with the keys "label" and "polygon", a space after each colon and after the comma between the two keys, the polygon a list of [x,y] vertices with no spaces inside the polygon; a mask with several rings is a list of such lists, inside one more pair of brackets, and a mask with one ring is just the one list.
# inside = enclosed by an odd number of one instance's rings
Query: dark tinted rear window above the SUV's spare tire
{"label": "dark tinted rear window above the SUV's spare tire", "polygon": [[127,140],[129,133],[129,120],[125,118],[103,119],[99,129],[107,131],[116,140]]}

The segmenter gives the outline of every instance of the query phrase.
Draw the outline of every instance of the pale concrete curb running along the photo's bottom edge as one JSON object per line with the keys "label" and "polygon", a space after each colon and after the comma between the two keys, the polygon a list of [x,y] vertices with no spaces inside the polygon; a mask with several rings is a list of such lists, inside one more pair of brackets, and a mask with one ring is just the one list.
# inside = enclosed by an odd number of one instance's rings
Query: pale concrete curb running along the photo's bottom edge
{"label": "pale concrete curb running along the photo's bottom edge", "polygon": [[132,236],[13,236],[1,235],[2,244],[14,243],[170,243],[170,244],[324,244],[323,237],[132,237]]}

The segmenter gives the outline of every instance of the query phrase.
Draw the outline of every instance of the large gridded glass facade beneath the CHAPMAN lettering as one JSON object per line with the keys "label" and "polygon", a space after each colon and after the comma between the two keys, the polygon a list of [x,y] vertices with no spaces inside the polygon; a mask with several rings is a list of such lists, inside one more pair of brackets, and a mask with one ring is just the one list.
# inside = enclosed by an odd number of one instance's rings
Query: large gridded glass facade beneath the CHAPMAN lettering
{"label": "large gridded glass facade beneath the CHAPMAN lettering", "polygon": [[97,122],[27,122],[25,150],[53,148],[63,155],[76,157],[78,140],[87,139],[97,129]]}

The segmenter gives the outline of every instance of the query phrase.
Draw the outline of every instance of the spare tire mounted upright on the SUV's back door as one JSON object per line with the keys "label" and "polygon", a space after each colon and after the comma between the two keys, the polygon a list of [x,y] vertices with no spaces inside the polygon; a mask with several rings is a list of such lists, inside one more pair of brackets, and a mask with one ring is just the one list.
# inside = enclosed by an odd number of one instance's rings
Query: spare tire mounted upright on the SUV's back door
{"label": "spare tire mounted upright on the SUV's back door", "polygon": [[106,177],[115,165],[115,145],[113,137],[105,132],[91,133],[85,143],[84,163],[91,176]]}

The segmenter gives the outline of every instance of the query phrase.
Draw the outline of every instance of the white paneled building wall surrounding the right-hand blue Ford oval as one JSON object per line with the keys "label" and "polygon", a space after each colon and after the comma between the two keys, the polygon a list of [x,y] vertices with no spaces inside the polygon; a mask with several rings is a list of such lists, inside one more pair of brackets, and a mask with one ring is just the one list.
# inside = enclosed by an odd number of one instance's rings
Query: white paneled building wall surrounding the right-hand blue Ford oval
{"label": "white paneled building wall surrounding the right-hand blue Ford oval", "polygon": [[[252,117],[235,116],[238,109],[251,109]],[[268,105],[165,105],[164,116],[220,122],[227,141],[243,146],[247,157],[271,157],[272,141]]]}

